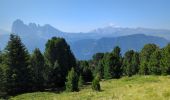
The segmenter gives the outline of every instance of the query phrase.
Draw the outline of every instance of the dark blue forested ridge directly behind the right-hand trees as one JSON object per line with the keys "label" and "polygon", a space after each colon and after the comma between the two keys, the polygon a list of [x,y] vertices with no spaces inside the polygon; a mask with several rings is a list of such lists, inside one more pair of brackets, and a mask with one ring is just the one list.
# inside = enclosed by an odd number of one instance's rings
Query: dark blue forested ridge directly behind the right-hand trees
{"label": "dark blue forested ridge directly behind the right-hand trees", "polygon": [[120,46],[122,54],[131,49],[140,51],[147,43],[155,43],[163,47],[169,41],[161,37],[134,34],[121,37],[104,37],[98,40],[80,40],[72,43],[71,49],[77,58],[89,59],[97,52],[110,52],[115,46]]}

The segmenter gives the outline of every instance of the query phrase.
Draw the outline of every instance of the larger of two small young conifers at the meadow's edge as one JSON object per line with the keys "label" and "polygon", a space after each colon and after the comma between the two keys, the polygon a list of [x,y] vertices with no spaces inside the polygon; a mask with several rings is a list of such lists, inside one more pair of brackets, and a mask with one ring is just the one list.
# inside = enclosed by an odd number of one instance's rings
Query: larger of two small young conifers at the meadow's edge
{"label": "larger of two small young conifers at the meadow's edge", "polygon": [[67,82],[66,84],[66,91],[73,92],[78,91],[78,76],[77,73],[74,71],[74,68],[68,73]]}

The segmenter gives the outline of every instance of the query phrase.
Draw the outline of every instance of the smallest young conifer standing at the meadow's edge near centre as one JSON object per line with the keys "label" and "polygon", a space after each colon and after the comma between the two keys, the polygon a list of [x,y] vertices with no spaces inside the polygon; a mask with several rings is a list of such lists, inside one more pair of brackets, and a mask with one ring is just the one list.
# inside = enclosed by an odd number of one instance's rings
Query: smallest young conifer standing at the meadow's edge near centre
{"label": "smallest young conifer standing at the meadow's edge near centre", "polygon": [[96,77],[92,81],[92,90],[95,90],[95,91],[101,90],[101,88],[100,88],[100,77],[99,77],[98,74],[96,75]]}

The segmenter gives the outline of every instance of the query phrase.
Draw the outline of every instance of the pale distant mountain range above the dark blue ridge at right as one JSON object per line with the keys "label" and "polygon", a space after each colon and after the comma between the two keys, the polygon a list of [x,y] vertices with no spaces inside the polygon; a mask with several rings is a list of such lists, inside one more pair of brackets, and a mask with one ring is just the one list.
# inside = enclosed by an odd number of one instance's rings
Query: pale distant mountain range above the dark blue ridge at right
{"label": "pale distant mountain range above the dark blue ridge at right", "polygon": [[145,34],[150,36],[163,37],[170,40],[170,30],[167,29],[150,29],[150,28],[122,28],[107,26],[104,28],[98,28],[90,31],[89,33],[99,34],[99,35],[110,35],[114,37],[126,36],[132,34]]}

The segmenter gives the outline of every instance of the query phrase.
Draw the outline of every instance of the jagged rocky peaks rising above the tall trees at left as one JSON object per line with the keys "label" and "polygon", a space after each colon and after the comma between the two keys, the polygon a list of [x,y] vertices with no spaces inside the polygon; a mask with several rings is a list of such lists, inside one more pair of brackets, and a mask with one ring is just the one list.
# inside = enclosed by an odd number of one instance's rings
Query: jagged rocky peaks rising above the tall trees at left
{"label": "jagged rocky peaks rising above the tall trees at left", "polygon": [[51,25],[36,25],[35,23],[29,23],[28,25],[24,24],[23,21],[17,19],[13,22],[12,25],[12,32],[17,33],[20,36],[27,35],[27,36],[39,36],[39,37],[53,37],[53,36],[63,36],[63,32],[60,30],[55,29]]}

